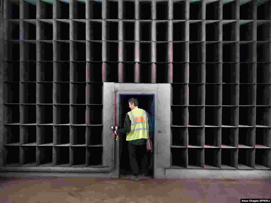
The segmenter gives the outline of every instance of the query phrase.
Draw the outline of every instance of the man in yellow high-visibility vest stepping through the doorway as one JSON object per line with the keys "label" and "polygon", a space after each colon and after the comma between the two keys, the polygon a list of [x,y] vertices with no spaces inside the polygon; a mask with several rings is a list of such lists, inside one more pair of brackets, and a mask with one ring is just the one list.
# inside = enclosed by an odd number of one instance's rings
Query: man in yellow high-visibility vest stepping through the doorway
{"label": "man in yellow high-visibility vest stepping through the doorway", "polygon": [[124,127],[115,131],[115,134],[127,133],[130,164],[133,171],[131,180],[139,181],[139,167],[137,159],[141,161],[143,175],[147,174],[146,142],[148,131],[151,130],[150,116],[144,109],[138,108],[138,101],[131,98],[128,101],[131,109],[125,116]]}

